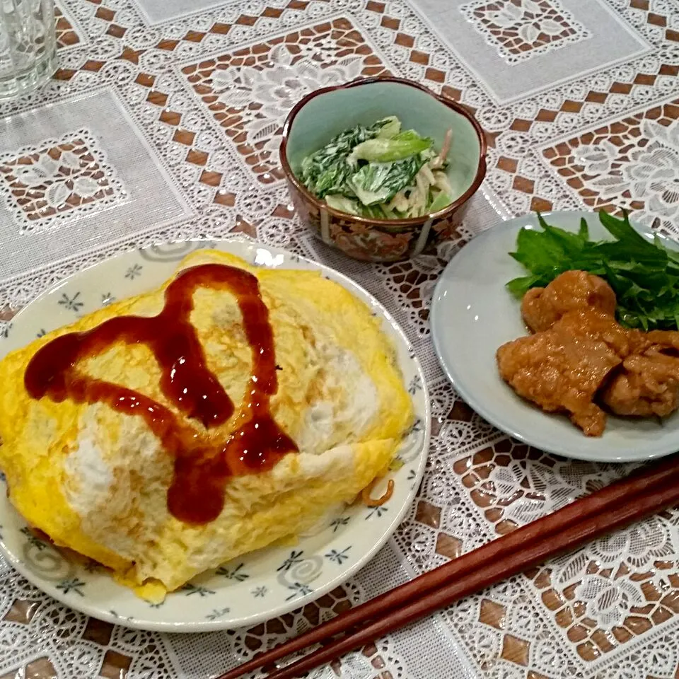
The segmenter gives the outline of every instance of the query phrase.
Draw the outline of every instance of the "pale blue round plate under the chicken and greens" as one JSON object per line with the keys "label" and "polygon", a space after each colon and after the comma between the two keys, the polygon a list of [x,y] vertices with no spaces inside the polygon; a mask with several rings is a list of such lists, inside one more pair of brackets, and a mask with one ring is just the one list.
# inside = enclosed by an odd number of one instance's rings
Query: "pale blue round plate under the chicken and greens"
{"label": "pale blue round plate under the chicken and greens", "polygon": [[[609,239],[593,212],[543,214],[552,226],[577,231],[584,217],[593,240]],[[623,462],[648,460],[679,448],[679,414],[654,419],[608,417],[600,438],[589,438],[564,415],[547,414],[518,397],[499,376],[497,348],[526,335],[520,303],[505,284],[526,275],[509,252],[523,228],[540,228],[537,216],[502,222],[470,241],[448,264],[431,304],[436,354],[455,389],[482,417],[516,439],[569,458]],[[652,240],[651,233],[634,225]],[[666,242],[675,247],[673,242]]]}

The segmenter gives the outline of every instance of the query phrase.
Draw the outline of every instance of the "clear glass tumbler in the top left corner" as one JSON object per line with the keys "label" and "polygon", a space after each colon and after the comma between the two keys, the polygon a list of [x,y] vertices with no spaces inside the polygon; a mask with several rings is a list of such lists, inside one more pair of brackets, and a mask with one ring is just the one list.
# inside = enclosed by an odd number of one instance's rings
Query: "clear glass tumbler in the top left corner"
{"label": "clear glass tumbler in the top left corner", "polygon": [[0,0],[0,99],[47,80],[56,52],[54,0]]}

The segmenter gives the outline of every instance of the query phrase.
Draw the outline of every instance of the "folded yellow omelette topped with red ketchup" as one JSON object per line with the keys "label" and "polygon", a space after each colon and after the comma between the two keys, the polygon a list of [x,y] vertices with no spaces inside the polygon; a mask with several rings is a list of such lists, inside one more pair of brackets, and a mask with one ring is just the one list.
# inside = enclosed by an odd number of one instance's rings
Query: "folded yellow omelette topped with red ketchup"
{"label": "folded yellow omelette topped with red ketchup", "polygon": [[368,306],[216,250],[8,354],[0,383],[12,504],[153,601],[354,501],[413,421]]}

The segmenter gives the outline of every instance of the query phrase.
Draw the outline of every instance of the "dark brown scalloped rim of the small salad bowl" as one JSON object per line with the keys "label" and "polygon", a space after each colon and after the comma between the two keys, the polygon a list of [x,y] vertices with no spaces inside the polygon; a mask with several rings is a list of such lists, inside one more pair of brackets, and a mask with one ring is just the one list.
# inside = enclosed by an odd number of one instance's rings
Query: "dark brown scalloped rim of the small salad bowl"
{"label": "dark brown scalloped rim of the small salad bowl", "polygon": [[[328,92],[332,92],[335,90],[345,90],[351,87],[359,87],[361,85],[372,85],[374,83],[400,83],[401,85],[407,85],[409,87],[414,87],[417,88],[418,90],[428,94],[430,97],[436,99],[439,101],[439,103],[443,104],[444,106],[447,106],[448,108],[452,109],[456,113],[459,113],[463,117],[465,117],[471,124],[472,127],[474,128],[474,131],[477,134],[477,137],[479,138],[479,163],[476,169],[476,174],[474,175],[474,180],[472,181],[472,184],[466,190],[460,197],[456,198],[453,200],[452,203],[446,205],[443,209],[439,210],[438,212],[430,212],[429,214],[424,214],[419,217],[409,217],[408,219],[371,219],[368,217],[361,217],[361,216],[356,216],[353,214],[349,214],[348,212],[342,212],[341,210],[336,210],[332,207],[330,207],[325,201],[319,200],[313,193],[311,193],[306,186],[303,185],[303,183],[298,180],[296,177],[295,173],[292,171],[292,168],[290,167],[290,163],[288,162],[287,158],[287,141],[288,141],[288,136],[290,134],[290,130],[292,127],[292,124],[297,116],[297,114],[315,97],[318,97],[321,94],[327,94]],[[345,83],[344,85],[335,85],[335,86],[330,86],[330,87],[323,87],[318,90],[314,90],[313,92],[309,93],[304,97],[303,99],[299,100],[296,105],[291,109],[291,111],[288,114],[288,117],[285,119],[285,123],[283,125],[283,134],[282,134],[282,139],[281,139],[281,149],[280,149],[280,160],[281,160],[281,165],[283,166],[283,171],[286,175],[286,178],[289,180],[289,182],[294,185],[294,187],[301,192],[309,201],[311,201],[313,204],[315,204],[318,209],[325,209],[329,214],[332,214],[332,216],[339,217],[340,219],[350,219],[351,221],[356,221],[359,224],[367,224],[369,226],[381,226],[383,228],[389,229],[389,228],[402,228],[404,226],[422,226],[426,221],[429,221],[430,219],[439,219],[441,217],[444,217],[448,214],[452,214],[455,210],[457,210],[460,206],[464,205],[465,202],[467,202],[472,195],[477,192],[478,188],[481,185],[481,182],[484,180],[484,177],[486,176],[486,153],[487,153],[487,144],[486,144],[486,137],[483,132],[483,128],[481,127],[480,122],[472,115],[472,113],[465,108],[463,105],[458,104],[456,101],[443,97],[440,94],[436,94],[433,90],[430,90],[429,88],[425,87],[424,85],[420,85],[420,83],[416,83],[415,81],[412,80],[407,80],[405,78],[392,78],[392,77],[376,77],[376,78],[359,78],[357,80],[353,80],[350,83]]]}

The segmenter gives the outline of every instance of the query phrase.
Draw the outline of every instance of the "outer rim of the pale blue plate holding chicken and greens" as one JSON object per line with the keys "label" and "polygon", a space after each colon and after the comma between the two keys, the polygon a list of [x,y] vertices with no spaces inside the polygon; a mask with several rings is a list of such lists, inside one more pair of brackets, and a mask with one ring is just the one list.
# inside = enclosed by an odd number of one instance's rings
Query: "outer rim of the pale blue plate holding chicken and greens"
{"label": "outer rim of the pale blue plate holding chicken and greens", "polygon": [[[598,220],[598,211],[594,210],[551,210],[551,211],[545,211],[545,212],[540,212],[540,214],[545,218],[545,219],[550,219],[550,218],[555,218],[558,219],[559,216],[563,215],[569,215],[569,217],[590,217],[590,218],[596,218]],[[448,380],[451,382],[453,385],[453,388],[455,388],[455,391],[460,395],[465,402],[468,403],[468,405],[480,414],[481,417],[483,417],[489,424],[492,424],[492,426],[496,427],[499,429],[499,431],[502,431],[504,434],[508,434],[511,436],[513,439],[516,439],[517,441],[520,441],[521,443],[525,443],[528,446],[531,446],[533,448],[537,448],[540,451],[544,451],[545,453],[550,453],[552,455],[559,455],[563,458],[569,458],[573,460],[584,460],[586,462],[598,462],[598,463],[632,463],[632,462],[640,462],[644,460],[656,460],[658,458],[663,458],[666,457],[667,455],[673,455],[673,453],[676,452],[677,448],[679,447],[679,440],[677,442],[677,446],[674,446],[672,448],[669,448],[665,450],[664,448],[661,449],[660,451],[656,451],[655,453],[640,453],[639,455],[634,455],[633,453],[630,455],[625,455],[624,457],[620,458],[615,458],[613,455],[605,455],[605,453],[602,453],[603,456],[601,455],[596,455],[595,453],[588,453],[588,452],[581,452],[581,451],[571,451],[570,449],[567,448],[562,448],[559,447],[558,445],[544,445],[543,443],[535,443],[534,439],[531,439],[530,434],[525,434],[522,431],[517,431],[515,427],[511,426],[511,424],[505,424],[504,422],[499,423],[497,419],[495,419],[494,414],[487,409],[482,400],[480,398],[477,398],[474,393],[470,392],[465,386],[460,384],[460,378],[458,373],[456,373],[455,369],[453,366],[451,366],[448,361],[446,361],[443,358],[443,351],[441,349],[441,342],[442,340],[442,332],[441,332],[441,323],[443,321],[441,318],[443,317],[443,313],[441,310],[441,304],[442,302],[440,301],[441,299],[441,291],[444,286],[444,274],[446,272],[453,271],[455,267],[457,267],[460,264],[460,260],[458,257],[462,255],[462,253],[465,250],[465,247],[470,245],[472,242],[478,242],[478,243],[483,243],[484,240],[488,240],[489,238],[492,238],[492,234],[494,232],[497,232],[499,230],[504,230],[504,231],[511,231],[513,228],[516,228],[519,226],[520,228],[520,223],[521,221],[525,221],[526,219],[533,219],[536,220],[537,216],[535,212],[528,212],[526,214],[521,214],[518,216],[511,217],[511,219],[504,219],[497,224],[493,224],[492,226],[489,226],[488,228],[484,229],[484,231],[481,231],[481,233],[478,233],[476,236],[474,236],[471,240],[468,241],[468,243],[465,243],[460,250],[458,250],[455,255],[451,258],[450,262],[444,267],[443,271],[441,272],[441,275],[439,276],[439,280],[436,282],[436,286],[434,287],[434,293],[432,294],[431,297],[431,339],[432,343],[434,344],[434,352],[436,354],[436,359],[439,361],[439,365],[441,366],[441,369],[443,372],[446,374],[446,377]],[[638,221],[635,221],[634,219],[629,220],[632,226],[641,233],[643,236],[646,236],[648,238],[649,236],[654,236],[654,232],[651,231],[650,228],[644,226],[643,224],[640,224]],[[658,236],[661,236],[661,238],[666,238],[662,234],[658,234]],[[669,240],[669,239],[666,239]],[[477,245],[478,247],[478,245]],[[508,255],[509,256],[509,255]],[[457,260],[457,263],[455,263],[455,260]],[[530,406],[530,404],[526,404],[526,407],[533,407]],[[551,413],[542,413],[545,415],[545,417],[558,417],[558,414],[551,414]],[[583,434],[583,436],[585,436]],[[555,438],[555,440],[557,440]]]}

